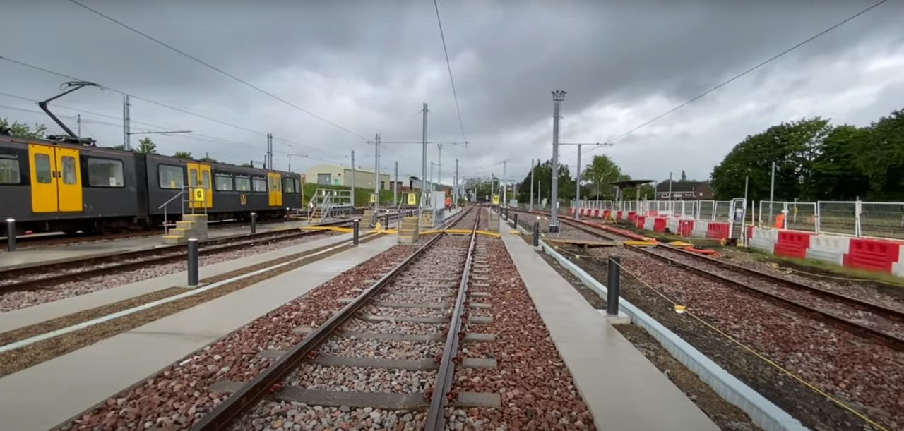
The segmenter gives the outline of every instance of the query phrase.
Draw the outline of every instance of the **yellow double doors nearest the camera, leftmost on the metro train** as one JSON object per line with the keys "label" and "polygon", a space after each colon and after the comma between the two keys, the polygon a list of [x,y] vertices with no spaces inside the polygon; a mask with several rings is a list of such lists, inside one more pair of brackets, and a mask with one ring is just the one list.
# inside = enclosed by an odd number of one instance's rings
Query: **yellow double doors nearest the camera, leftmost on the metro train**
{"label": "yellow double doors nearest the camera, leftmost on the metro train", "polygon": [[82,211],[79,150],[28,145],[32,212]]}

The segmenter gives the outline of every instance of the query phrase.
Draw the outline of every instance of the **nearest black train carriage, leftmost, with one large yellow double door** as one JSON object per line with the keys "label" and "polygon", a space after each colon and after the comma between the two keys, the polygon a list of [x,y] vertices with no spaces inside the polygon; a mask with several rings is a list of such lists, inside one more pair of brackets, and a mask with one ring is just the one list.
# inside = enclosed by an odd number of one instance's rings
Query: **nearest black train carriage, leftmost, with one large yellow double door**
{"label": "nearest black train carriage, leftmost, with one large yellow double door", "polygon": [[19,233],[146,223],[144,166],[136,153],[0,136],[0,217]]}

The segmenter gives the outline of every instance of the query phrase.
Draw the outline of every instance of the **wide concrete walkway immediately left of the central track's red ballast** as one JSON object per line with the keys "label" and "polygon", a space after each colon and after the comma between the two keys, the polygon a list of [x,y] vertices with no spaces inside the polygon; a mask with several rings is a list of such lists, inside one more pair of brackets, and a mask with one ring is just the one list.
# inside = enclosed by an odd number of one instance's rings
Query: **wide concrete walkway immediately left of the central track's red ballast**
{"label": "wide concrete walkway immediately left of the central track's red ballast", "polygon": [[41,430],[391,248],[393,235],[0,379],[0,429]]}

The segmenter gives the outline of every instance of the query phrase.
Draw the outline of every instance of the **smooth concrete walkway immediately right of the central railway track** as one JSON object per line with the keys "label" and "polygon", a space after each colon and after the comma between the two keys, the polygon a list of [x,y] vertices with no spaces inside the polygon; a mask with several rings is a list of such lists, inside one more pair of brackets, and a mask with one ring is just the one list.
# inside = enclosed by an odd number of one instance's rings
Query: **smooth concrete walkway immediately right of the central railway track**
{"label": "smooth concrete walkway immediately right of the central railway track", "polygon": [[505,248],[598,429],[719,429],[529,244],[504,221],[500,226]]}

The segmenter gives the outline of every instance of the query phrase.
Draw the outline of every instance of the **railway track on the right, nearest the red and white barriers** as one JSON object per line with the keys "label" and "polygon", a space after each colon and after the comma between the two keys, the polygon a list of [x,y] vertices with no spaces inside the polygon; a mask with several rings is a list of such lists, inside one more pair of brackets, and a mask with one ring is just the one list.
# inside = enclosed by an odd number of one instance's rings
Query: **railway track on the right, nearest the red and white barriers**
{"label": "railway track on the right, nearest the red and white barriers", "polygon": [[[617,232],[603,230],[595,223],[569,217],[560,217],[560,220],[599,238],[624,239]],[[663,244],[652,248],[626,248],[716,278],[779,305],[813,314],[897,351],[904,351],[904,312],[900,310]]]}

